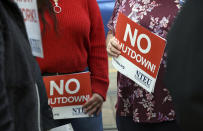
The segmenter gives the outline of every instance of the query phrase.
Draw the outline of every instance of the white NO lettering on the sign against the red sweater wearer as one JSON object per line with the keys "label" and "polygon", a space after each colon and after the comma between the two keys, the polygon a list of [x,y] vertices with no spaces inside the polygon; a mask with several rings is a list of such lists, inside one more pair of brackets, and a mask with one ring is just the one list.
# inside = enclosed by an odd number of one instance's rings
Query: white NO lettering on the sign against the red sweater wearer
{"label": "white NO lettering on the sign against the red sweater wearer", "polygon": [[[74,90],[70,90],[69,85],[70,83],[74,82],[76,84],[76,88]],[[60,80],[60,85],[58,86],[55,81],[50,81],[50,96],[54,95],[54,89],[60,94],[63,95],[64,89],[69,94],[76,94],[80,90],[80,82],[75,79],[69,79],[67,80],[64,88],[64,80]]]}

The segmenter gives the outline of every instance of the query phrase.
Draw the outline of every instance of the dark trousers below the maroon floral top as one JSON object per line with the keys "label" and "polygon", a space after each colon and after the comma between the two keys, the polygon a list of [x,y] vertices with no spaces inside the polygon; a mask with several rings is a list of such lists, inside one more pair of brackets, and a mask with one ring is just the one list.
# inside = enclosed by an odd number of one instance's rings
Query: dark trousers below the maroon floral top
{"label": "dark trousers below the maroon floral top", "polygon": [[116,116],[118,131],[181,131],[176,121],[161,123],[135,123],[132,117]]}

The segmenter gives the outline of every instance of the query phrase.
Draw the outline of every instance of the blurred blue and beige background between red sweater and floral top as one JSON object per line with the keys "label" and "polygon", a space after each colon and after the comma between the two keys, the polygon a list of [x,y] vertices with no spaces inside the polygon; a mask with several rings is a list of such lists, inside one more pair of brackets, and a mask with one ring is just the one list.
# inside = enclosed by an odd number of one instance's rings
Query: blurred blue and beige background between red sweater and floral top
{"label": "blurred blue and beige background between red sweater and floral top", "polygon": [[[104,23],[105,35],[108,32],[107,23],[112,15],[115,0],[97,0],[99,8],[102,14],[102,19]],[[108,89],[107,99],[103,105],[103,126],[104,131],[117,131],[116,120],[115,120],[115,104],[117,97],[117,86],[116,86],[116,70],[113,68],[111,61],[112,58],[109,57],[109,79],[110,85]]]}

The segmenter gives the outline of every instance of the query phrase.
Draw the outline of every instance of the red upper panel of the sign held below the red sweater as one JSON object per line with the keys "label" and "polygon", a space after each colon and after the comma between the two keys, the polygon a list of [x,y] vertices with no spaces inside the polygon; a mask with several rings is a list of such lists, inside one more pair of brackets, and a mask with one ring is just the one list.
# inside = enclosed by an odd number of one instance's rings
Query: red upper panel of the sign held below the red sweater
{"label": "red upper panel of the sign held below the red sweater", "polygon": [[90,73],[43,77],[49,105],[83,105],[91,97]]}

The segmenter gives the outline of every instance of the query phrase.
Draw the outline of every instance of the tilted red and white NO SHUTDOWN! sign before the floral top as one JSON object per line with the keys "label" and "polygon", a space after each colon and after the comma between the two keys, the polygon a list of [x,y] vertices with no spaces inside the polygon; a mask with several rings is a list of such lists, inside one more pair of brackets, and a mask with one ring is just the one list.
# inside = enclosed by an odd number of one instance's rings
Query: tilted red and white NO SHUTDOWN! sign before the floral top
{"label": "tilted red and white NO SHUTDOWN! sign before the floral top", "polygon": [[138,85],[153,92],[165,49],[165,40],[119,13],[115,37],[121,55],[113,66]]}

